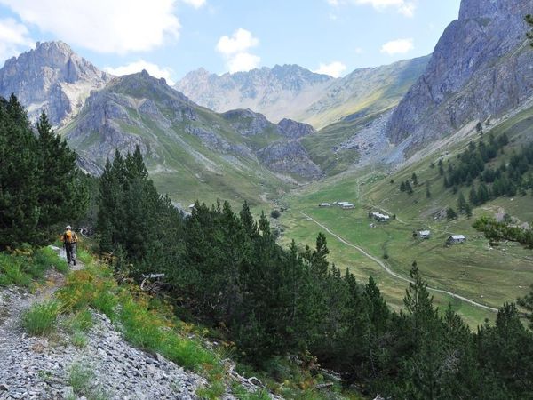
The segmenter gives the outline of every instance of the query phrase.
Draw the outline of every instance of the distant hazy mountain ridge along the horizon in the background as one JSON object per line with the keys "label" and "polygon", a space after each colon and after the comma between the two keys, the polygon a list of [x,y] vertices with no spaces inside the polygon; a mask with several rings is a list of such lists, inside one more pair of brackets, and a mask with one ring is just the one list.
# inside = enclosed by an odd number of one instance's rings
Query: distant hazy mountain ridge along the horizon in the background
{"label": "distant hazy mountain ridge along the horizon in the background", "polygon": [[[187,74],[175,87],[196,103],[218,112],[250,108],[270,121],[291,118],[318,129],[354,113],[366,115],[395,106],[423,73],[428,60],[422,57],[356,69],[337,79],[298,65],[222,76],[201,68]],[[376,92],[380,95],[370,99]]]}

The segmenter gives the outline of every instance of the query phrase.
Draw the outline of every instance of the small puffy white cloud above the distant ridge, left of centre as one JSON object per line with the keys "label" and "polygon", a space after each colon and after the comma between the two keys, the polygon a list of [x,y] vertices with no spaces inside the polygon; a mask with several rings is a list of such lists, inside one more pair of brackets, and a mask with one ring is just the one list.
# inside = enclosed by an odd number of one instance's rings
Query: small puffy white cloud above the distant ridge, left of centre
{"label": "small puffy white cloud above the distant ridge, left of centre", "polygon": [[250,31],[239,28],[235,30],[231,37],[220,37],[216,49],[226,57],[227,68],[233,74],[259,67],[261,58],[248,52],[251,47],[255,47],[258,44],[259,39],[254,37]]}

